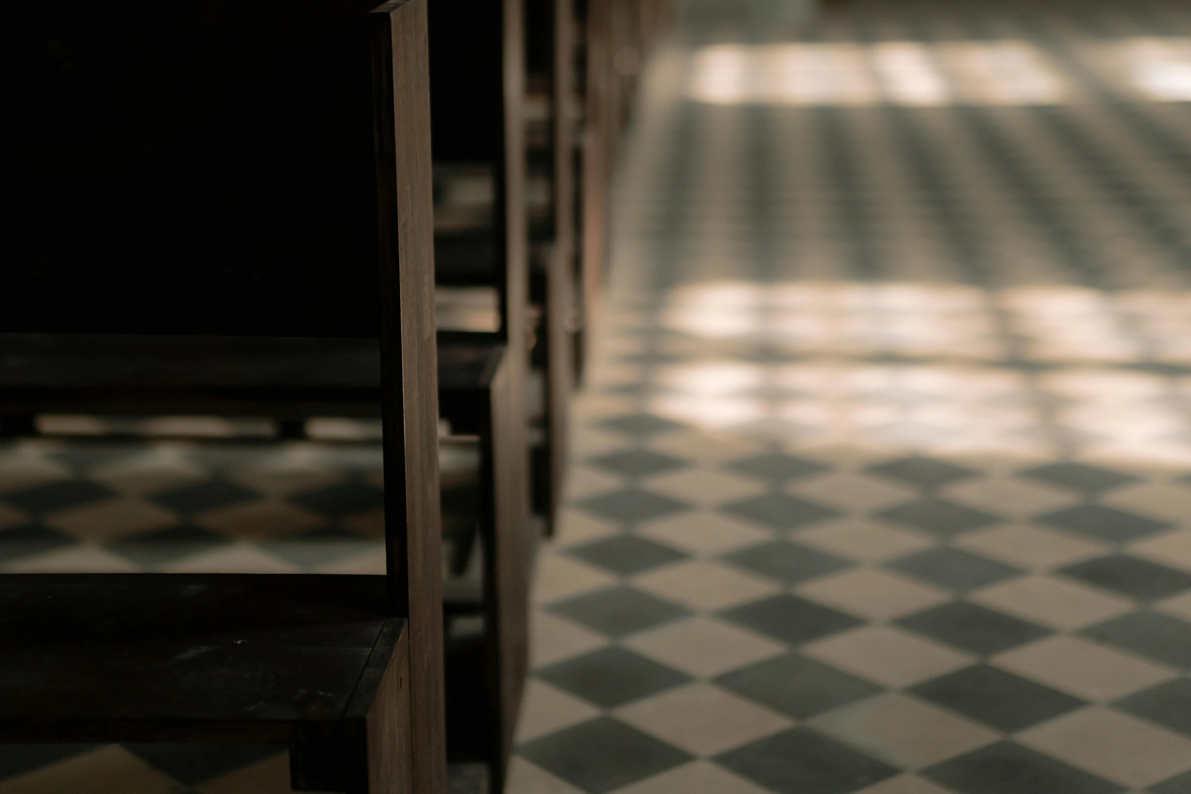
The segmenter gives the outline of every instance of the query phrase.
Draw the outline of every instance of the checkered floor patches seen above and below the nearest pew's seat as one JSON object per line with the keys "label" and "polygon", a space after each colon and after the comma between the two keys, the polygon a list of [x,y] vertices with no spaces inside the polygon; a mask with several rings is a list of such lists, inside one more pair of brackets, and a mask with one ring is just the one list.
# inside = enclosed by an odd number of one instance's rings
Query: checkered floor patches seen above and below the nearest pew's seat
{"label": "checkered floor patches seen above and below the nearest pew's seat", "polygon": [[[325,458],[325,459],[324,459]],[[0,571],[378,573],[374,444],[0,444]],[[283,746],[5,746],[4,792],[288,790]]]}

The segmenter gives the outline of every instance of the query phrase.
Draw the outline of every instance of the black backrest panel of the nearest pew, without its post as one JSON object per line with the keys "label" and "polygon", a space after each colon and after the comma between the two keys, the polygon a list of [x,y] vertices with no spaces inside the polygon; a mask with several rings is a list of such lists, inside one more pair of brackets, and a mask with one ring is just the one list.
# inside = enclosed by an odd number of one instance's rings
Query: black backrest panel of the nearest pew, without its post
{"label": "black backrest panel of the nearest pew, without its post", "polygon": [[19,4],[0,331],[379,336],[374,5]]}

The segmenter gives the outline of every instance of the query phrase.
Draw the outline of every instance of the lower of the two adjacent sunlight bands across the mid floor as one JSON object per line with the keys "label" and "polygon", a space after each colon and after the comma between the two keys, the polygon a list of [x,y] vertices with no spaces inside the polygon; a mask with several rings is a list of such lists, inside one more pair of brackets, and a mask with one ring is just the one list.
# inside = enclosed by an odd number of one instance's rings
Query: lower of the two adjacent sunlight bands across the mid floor
{"label": "lower of the two adjacent sunlight bands across the mid floor", "polygon": [[[690,364],[687,377],[698,380],[704,365]],[[1035,380],[991,365],[855,361],[759,370],[774,383],[817,382],[813,390],[772,396],[747,388],[700,394],[672,382],[649,396],[646,409],[704,430],[753,425],[766,438],[809,444],[1055,455],[1064,434],[1074,433],[1091,451],[1191,463],[1191,446],[1179,437],[1181,411],[1156,375],[1086,367]],[[1147,388],[1134,388],[1139,383]],[[1045,398],[1056,393],[1064,396],[1058,408]]]}

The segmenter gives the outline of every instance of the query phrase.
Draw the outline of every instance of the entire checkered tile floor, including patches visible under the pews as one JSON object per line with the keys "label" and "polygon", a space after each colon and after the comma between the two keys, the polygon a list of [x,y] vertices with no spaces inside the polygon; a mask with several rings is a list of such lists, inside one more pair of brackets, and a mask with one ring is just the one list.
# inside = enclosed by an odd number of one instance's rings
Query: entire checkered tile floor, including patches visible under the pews
{"label": "entire checkered tile floor, including patches visible under the pews", "polygon": [[[840,8],[690,0],[648,75],[512,794],[1191,793],[1191,6]],[[10,445],[0,570],[373,570],[379,484]],[[285,773],[0,748],[0,794]]]}

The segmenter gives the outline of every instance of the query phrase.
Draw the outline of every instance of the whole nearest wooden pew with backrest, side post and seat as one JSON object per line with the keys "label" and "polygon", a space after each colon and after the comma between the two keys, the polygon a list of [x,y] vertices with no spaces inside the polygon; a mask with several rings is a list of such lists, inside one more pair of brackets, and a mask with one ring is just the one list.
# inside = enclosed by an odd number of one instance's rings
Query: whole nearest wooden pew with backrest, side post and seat
{"label": "whole nearest wooden pew with backrest, side post and seat", "polygon": [[0,577],[0,740],[287,743],[295,788],[445,792],[424,0],[13,17],[0,330],[379,339],[389,570]]}

